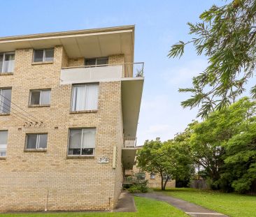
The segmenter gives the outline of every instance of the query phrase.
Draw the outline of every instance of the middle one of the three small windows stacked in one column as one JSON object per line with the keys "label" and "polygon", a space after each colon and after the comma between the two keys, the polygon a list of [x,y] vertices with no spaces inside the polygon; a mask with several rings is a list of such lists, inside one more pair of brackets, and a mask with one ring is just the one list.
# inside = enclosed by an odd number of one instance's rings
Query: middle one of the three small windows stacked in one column
{"label": "middle one of the three small windows stacked in one column", "polygon": [[50,90],[31,91],[29,105],[50,105]]}

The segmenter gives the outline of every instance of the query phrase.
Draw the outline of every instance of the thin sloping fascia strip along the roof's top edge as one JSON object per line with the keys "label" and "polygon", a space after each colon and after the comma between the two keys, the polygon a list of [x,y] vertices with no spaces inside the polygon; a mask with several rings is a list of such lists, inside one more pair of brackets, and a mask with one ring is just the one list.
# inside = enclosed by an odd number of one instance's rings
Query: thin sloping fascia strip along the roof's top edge
{"label": "thin sloping fascia strip along the roof's top edge", "polygon": [[36,34],[29,34],[29,35],[21,35],[21,36],[6,36],[0,37],[0,41],[4,42],[5,40],[22,40],[22,39],[29,39],[29,38],[41,38],[41,37],[52,37],[52,36],[69,36],[69,35],[76,35],[76,34],[83,34],[83,33],[102,33],[105,31],[122,31],[132,29],[134,31],[135,25],[127,25],[127,26],[120,26],[120,27],[105,27],[105,28],[97,28],[97,29],[81,29],[81,30],[74,30],[74,31],[57,31],[57,32],[50,32],[50,33],[36,33]]}

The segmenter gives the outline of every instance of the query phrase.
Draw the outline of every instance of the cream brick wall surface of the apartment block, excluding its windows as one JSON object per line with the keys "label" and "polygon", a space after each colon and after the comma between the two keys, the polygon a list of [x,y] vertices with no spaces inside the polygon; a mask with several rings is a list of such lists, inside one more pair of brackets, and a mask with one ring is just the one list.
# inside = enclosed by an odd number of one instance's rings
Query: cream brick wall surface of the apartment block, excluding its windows
{"label": "cream brick wall surface of the apartment block, excluding its windows", "polygon": [[[97,112],[70,114],[72,87],[60,85],[59,75],[73,61],[63,47],[55,47],[54,63],[34,65],[32,56],[31,49],[16,50],[13,75],[0,75],[0,88],[12,87],[12,101],[43,121],[42,127],[23,127],[12,113],[15,106],[0,116],[0,130],[8,130],[6,159],[0,160],[0,211],[42,211],[47,194],[48,210],[108,209],[109,197],[113,209],[122,188],[121,82],[99,83]],[[48,88],[50,107],[28,107],[30,89]],[[69,128],[80,127],[97,129],[95,155],[67,158]],[[48,133],[47,151],[25,152],[26,133]],[[102,156],[110,162],[98,163]]]}

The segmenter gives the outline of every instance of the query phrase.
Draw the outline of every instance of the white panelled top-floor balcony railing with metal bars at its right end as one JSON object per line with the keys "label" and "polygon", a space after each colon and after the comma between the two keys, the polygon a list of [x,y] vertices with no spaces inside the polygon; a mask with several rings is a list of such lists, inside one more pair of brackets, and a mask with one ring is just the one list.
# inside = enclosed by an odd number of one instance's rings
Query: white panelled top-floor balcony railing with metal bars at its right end
{"label": "white panelled top-floor balcony railing with metal bars at its right end", "polygon": [[119,63],[97,66],[63,67],[61,84],[120,80],[124,77],[143,77],[144,63]]}

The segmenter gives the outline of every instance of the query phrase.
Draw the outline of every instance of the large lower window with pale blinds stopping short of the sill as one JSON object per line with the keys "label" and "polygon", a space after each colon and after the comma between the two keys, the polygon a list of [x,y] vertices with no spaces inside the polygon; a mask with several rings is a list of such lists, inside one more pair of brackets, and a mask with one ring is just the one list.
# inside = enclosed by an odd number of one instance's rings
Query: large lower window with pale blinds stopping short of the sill
{"label": "large lower window with pale blinds stopping short of the sill", "polygon": [[95,133],[95,128],[70,129],[68,155],[94,155]]}

